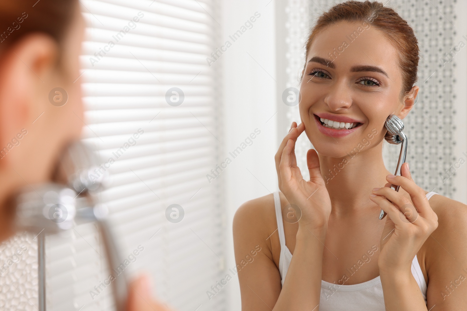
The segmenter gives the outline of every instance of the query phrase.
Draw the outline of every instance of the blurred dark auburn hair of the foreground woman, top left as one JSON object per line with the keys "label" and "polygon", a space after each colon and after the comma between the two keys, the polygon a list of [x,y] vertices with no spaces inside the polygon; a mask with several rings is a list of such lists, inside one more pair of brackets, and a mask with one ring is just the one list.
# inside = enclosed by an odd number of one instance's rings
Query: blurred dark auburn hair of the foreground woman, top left
{"label": "blurred dark auburn hair of the foreground woman, top left", "polygon": [[1,0],[0,49],[33,32],[60,43],[77,8],[76,0]]}

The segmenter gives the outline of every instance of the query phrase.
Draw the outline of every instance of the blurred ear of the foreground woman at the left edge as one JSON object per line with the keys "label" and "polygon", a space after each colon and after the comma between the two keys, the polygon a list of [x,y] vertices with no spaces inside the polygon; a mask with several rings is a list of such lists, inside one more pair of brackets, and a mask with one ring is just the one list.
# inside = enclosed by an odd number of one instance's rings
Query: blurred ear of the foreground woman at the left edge
{"label": "blurred ear of the foreground woman at the left edge", "polygon": [[57,51],[57,43],[50,36],[38,33],[26,35],[2,52],[0,150],[5,153],[9,153],[12,138],[22,129],[37,130],[34,121],[48,108],[46,100],[37,98],[47,98],[46,90],[56,71]]}

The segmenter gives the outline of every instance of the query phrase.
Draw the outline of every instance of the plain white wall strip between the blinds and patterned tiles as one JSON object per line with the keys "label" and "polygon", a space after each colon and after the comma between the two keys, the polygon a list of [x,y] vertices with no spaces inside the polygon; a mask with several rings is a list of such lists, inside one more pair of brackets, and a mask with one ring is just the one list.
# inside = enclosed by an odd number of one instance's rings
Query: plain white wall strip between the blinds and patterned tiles
{"label": "plain white wall strip between the blinds and patterned tiles", "polygon": [[[222,42],[232,46],[221,55],[223,74],[224,151],[237,148],[258,128],[253,144],[233,159],[224,172],[226,205],[226,268],[235,266],[232,221],[245,201],[269,194],[277,188],[274,164],[276,145],[276,52],[275,10],[269,0],[222,0]],[[235,42],[229,38],[255,12],[261,14]],[[217,62],[216,62],[217,64]],[[230,157],[230,156],[229,156]],[[221,156],[222,158],[222,156]],[[232,157],[230,157],[232,158]],[[229,311],[240,311],[238,276],[228,283]]]}

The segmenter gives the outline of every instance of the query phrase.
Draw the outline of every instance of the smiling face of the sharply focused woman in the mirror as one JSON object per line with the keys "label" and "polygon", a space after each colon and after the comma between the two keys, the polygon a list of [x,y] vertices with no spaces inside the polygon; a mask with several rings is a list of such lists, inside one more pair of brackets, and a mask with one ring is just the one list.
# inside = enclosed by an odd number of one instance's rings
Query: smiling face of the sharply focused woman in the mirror
{"label": "smiling face of the sharply focused woman in the mirror", "polygon": [[402,119],[410,111],[400,100],[397,50],[371,23],[326,28],[315,37],[306,61],[300,117],[322,155],[341,158],[359,144],[378,145],[386,118]]}

